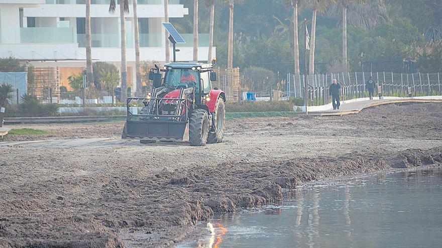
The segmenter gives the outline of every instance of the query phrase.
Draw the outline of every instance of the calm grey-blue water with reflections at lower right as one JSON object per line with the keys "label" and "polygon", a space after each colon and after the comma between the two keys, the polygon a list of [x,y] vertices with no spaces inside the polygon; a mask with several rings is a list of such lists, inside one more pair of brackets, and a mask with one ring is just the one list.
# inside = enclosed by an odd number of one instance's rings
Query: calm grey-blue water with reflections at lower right
{"label": "calm grey-blue water with reflections at lower right", "polygon": [[441,185],[440,169],[316,184],[217,216],[212,241],[180,247],[440,247]]}

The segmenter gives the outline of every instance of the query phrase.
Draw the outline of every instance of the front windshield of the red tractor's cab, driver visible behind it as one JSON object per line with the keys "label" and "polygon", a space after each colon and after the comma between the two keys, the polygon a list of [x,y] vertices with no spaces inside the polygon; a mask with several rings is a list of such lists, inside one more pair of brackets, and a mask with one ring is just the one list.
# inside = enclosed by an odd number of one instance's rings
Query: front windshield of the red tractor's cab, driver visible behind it
{"label": "front windshield of the red tractor's cab, driver visible behind it", "polygon": [[197,71],[190,69],[169,69],[166,72],[164,83],[173,86],[195,87],[199,91],[199,75]]}

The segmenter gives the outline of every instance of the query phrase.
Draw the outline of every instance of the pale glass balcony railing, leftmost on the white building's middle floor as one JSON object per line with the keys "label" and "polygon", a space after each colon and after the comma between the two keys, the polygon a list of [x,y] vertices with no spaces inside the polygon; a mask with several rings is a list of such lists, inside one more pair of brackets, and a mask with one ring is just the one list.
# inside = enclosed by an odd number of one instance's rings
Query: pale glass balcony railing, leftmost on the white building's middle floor
{"label": "pale glass balcony railing, leftmost on the white building's middle floor", "polygon": [[20,28],[21,43],[77,43],[73,28]]}

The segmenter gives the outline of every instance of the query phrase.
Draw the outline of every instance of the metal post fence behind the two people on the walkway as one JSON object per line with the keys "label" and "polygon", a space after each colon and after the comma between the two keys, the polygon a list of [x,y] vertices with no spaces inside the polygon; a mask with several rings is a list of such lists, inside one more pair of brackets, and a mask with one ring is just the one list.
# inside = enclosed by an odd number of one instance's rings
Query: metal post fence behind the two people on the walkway
{"label": "metal post fence behind the two people on the walkway", "polygon": [[332,101],[328,94],[332,79],[341,84],[343,100],[368,97],[366,82],[372,76],[378,86],[376,94],[382,96],[407,97],[442,95],[442,82],[439,73],[392,73],[392,72],[353,72],[308,75],[287,74],[284,92],[286,97],[304,98],[304,86],[307,85],[307,97],[311,105],[322,105]]}

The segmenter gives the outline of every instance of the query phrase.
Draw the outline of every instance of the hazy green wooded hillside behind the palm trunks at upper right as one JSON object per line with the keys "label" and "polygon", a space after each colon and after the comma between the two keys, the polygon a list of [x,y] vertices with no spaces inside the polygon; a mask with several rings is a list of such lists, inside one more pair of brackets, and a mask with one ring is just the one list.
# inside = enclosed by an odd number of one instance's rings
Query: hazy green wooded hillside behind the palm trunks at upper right
{"label": "hazy green wooded hillside behind the palm trunks at upper right", "polygon": [[[322,1],[322,0],[321,0]],[[245,0],[235,5],[234,66],[242,71],[262,67],[280,73],[293,73],[293,8],[281,0]],[[300,55],[304,39],[302,20],[311,28],[312,9],[299,1],[298,35]],[[325,2],[325,0],[324,0]],[[342,71],[342,11],[336,4],[316,21],[315,72]],[[434,55],[442,41],[442,2],[438,0],[372,0],[347,1],[349,70],[402,72],[402,60],[413,62],[414,72],[437,72],[442,68],[440,55]],[[361,5],[361,2],[366,2]],[[193,0],[181,0],[189,8],[184,20],[171,19],[182,33],[192,33]],[[227,65],[229,8],[219,1],[215,6],[214,46],[217,63]],[[201,33],[209,31],[209,11],[201,8],[198,15]],[[238,19],[236,19],[238,20]],[[174,22],[175,21],[175,22]],[[425,50],[426,52],[424,52]],[[431,51],[431,52],[429,52]],[[308,58],[307,58],[308,59]],[[373,63],[372,63],[373,62]],[[301,73],[304,58],[300,56]],[[247,81],[247,78],[246,78]],[[276,86],[274,80],[273,87]],[[250,80],[249,80],[250,82]],[[255,84],[257,82],[254,82]]]}

